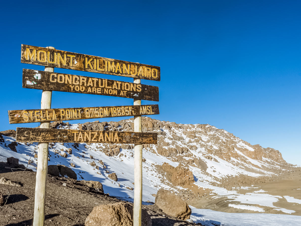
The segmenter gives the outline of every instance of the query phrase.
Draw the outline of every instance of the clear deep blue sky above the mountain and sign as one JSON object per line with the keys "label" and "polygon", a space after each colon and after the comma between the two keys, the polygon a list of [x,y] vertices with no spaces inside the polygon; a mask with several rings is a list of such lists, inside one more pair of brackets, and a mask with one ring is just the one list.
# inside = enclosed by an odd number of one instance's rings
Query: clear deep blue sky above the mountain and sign
{"label": "clear deep blue sky above the mountain and sign", "polygon": [[[7,110],[40,108],[42,91],[22,88],[22,68],[44,67],[21,64],[21,44],[54,46],[160,66],[160,82],[142,80],[159,86],[160,115],[153,118],[208,123],[301,164],[300,7],[300,1],[254,0],[4,1],[0,131],[38,125],[8,123]],[[53,92],[52,100],[53,108],[131,104],[64,92]]]}

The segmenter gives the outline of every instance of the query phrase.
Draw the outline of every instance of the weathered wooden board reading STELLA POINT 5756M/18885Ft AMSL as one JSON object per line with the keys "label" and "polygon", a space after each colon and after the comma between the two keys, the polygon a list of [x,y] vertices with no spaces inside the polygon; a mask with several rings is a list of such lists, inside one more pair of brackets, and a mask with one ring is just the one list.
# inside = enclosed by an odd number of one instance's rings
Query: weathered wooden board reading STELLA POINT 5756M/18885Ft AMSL
{"label": "weathered wooden board reading STELLA POINT 5756M/18885Ft AMSL", "polygon": [[13,110],[8,111],[8,118],[9,123],[14,124],[158,114],[158,105],[129,105],[87,108]]}

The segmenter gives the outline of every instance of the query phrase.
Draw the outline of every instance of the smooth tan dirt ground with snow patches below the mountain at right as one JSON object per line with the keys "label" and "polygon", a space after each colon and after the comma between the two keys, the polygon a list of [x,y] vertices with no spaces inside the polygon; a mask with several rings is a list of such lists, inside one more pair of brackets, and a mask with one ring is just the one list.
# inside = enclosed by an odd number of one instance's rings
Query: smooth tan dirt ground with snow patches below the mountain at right
{"label": "smooth tan dirt ground with snow patches below the mountain at right", "polygon": [[[252,182],[250,180],[249,184],[244,184],[245,187],[249,187],[249,189],[237,189],[239,194],[253,193],[254,191],[264,190],[266,194],[273,196],[281,196],[283,198],[279,198],[278,202],[274,202],[272,207],[253,205],[260,208],[263,208],[265,213],[274,213],[274,214],[287,214],[282,211],[275,210],[278,208],[284,208],[289,210],[294,210],[294,213],[291,215],[301,215],[301,204],[287,202],[284,196],[290,196],[295,199],[301,199],[301,168],[295,168],[292,171],[285,171],[281,175],[275,175],[273,177],[264,177],[260,183],[258,180],[256,182]],[[233,186],[235,187],[235,182],[232,181]],[[254,188],[251,188],[253,185]],[[233,193],[235,194],[235,193]],[[213,199],[214,197],[214,199]],[[242,205],[251,205],[246,203],[234,202],[231,199],[228,199],[226,196],[220,196],[216,198],[216,195],[208,195],[206,197],[201,197],[197,200],[191,200],[187,202],[189,205],[192,205],[196,208],[205,208],[212,209],[216,211],[229,212],[229,213],[255,213],[252,210],[245,209],[237,209],[233,207],[229,207],[228,204],[242,204]]]}

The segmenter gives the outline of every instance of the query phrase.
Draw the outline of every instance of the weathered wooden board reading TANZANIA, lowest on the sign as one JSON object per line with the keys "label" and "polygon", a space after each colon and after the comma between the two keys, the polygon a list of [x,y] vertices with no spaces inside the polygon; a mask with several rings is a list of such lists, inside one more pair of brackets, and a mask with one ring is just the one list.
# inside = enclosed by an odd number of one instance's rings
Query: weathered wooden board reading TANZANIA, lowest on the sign
{"label": "weathered wooden board reading TANZANIA, lowest on the sign", "polygon": [[16,142],[156,144],[157,133],[17,127]]}

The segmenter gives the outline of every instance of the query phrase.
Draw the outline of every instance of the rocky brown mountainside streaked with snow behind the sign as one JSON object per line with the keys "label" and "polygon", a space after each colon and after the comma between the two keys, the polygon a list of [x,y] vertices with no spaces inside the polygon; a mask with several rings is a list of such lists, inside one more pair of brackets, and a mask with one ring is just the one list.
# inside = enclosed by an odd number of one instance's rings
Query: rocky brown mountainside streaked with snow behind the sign
{"label": "rocky brown mountainside streaked with snow behind the sign", "polygon": [[[279,151],[263,148],[259,144],[251,145],[209,124],[176,124],[148,117],[142,119],[143,132],[158,133],[158,144],[144,145],[143,148],[143,201],[154,202],[154,194],[164,188],[189,204],[198,205],[206,199],[202,207],[210,206],[208,200],[223,199],[223,205],[229,207],[229,211],[297,212],[273,206],[280,199],[273,195],[266,194],[267,199],[271,199],[265,202],[268,204],[260,202],[260,195],[265,194],[254,190],[258,188],[256,184],[273,181],[284,171],[299,170],[285,162]],[[84,124],[53,122],[51,127],[133,131],[133,119]],[[13,130],[2,133],[0,161],[5,162],[7,157],[14,156],[24,165],[29,162],[28,167],[35,170],[36,143],[16,143]],[[78,180],[99,181],[105,193],[123,197],[124,200],[132,200],[135,188],[133,159],[134,147],[128,144],[49,144],[48,165],[66,165],[73,169]],[[242,193],[241,190],[252,192]],[[250,197],[258,201],[251,202]],[[272,202],[272,199],[277,200]],[[239,203],[244,205],[237,205]],[[216,203],[211,205],[211,209],[217,206]]]}

